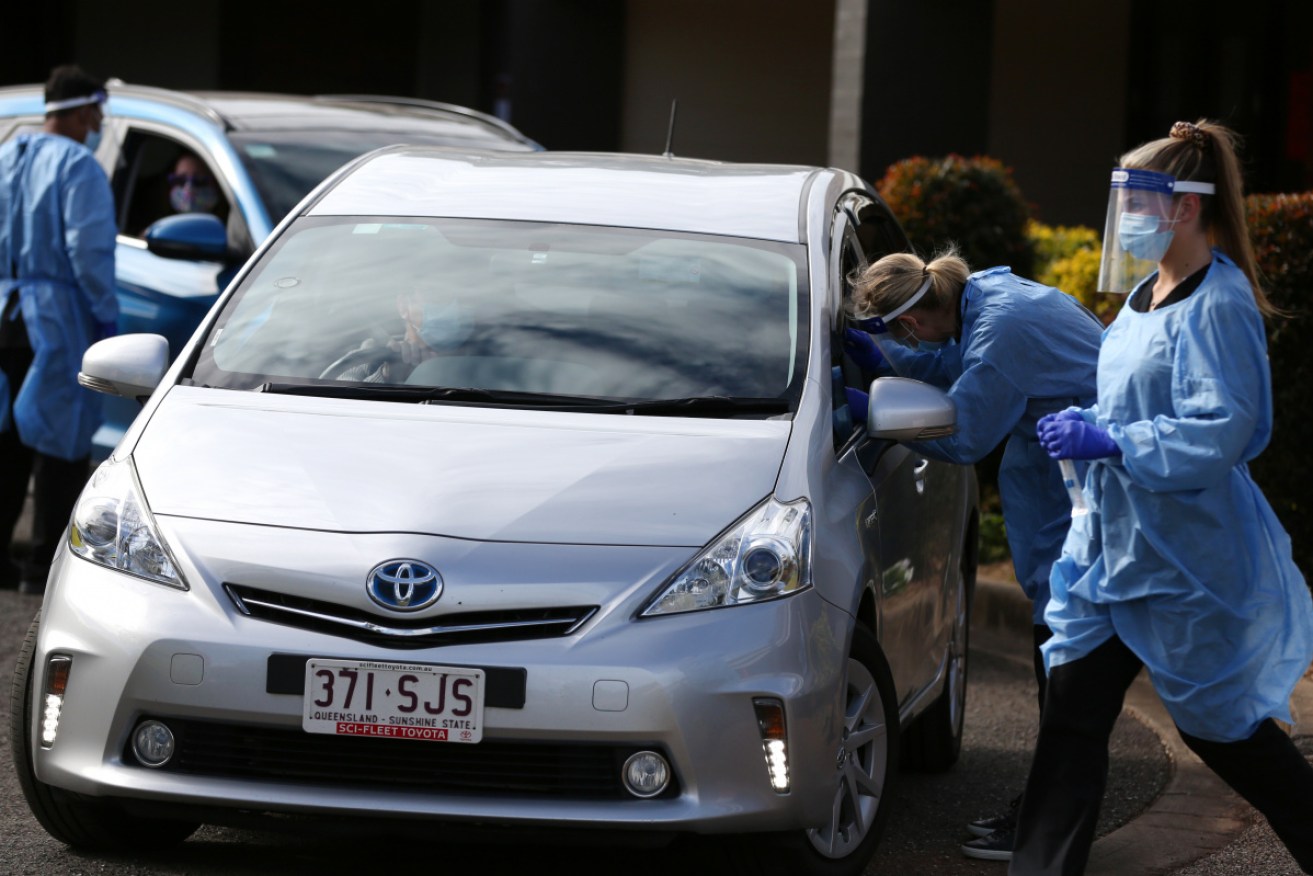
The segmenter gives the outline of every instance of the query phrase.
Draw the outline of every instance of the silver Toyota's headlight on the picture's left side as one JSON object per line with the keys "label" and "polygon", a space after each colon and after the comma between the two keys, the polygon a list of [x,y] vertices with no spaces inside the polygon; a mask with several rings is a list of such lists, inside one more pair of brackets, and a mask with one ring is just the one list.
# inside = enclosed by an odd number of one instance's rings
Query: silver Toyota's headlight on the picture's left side
{"label": "silver Toyota's headlight on the picture's left side", "polygon": [[83,559],[186,590],[142,499],[131,458],[96,469],[74,507],[68,548]]}

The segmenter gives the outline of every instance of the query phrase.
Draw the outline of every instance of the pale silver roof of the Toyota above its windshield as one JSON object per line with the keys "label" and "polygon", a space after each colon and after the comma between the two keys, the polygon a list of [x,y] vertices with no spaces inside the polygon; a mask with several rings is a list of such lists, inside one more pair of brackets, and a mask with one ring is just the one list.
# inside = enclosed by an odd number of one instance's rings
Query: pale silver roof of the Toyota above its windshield
{"label": "pale silver roof of the Toyota above its windshield", "polygon": [[836,171],[612,152],[387,147],[341,172],[309,215],[566,222],[805,240],[807,193]]}

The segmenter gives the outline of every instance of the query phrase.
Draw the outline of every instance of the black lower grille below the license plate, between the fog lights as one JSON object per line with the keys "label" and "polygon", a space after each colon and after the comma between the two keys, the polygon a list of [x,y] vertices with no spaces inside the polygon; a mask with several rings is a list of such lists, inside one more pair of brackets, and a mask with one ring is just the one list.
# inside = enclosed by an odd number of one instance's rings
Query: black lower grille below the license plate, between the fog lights
{"label": "black lower grille below the license plate, between the fog lights", "polygon": [[[475,745],[366,739],[277,728],[160,718],[177,738],[167,771],[431,792],[632,799],[620,772],[635,746]],[[137,763],[131,743],[125,763]],[[674,784],[662,796],[674,796]]]}

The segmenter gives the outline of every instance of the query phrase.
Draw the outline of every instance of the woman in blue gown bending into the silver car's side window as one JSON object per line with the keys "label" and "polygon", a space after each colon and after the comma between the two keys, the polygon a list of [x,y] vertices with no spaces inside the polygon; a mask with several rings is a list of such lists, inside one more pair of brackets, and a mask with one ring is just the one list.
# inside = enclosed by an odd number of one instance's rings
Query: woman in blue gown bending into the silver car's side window
{"label": "woman in blue gown bending into the silver car's side window", "polygon": [[[848,330],[850,356],[867,370],[892,370],[939,386],[957,407],[955,435],[909,447],[970,465],[1007,443],[999,498],[1016,579],[1032,603],[1043,708],[1039,645],[1049,633],[1044,625],[1049,570],[1071,523],[1071,500],[1035,426],[1045,414],[1094,402],[1103,323],[1071,296],[1008,268],[970,273],[953,251],[928,264],[902,252],[880,259],[855,281],[852,307],[874,334]],[[861,401],[855,415],[865,419]],[[970,822],[968,831],[977,838],[962,852],[1006,860],[1016,802],[1002,814]]]}

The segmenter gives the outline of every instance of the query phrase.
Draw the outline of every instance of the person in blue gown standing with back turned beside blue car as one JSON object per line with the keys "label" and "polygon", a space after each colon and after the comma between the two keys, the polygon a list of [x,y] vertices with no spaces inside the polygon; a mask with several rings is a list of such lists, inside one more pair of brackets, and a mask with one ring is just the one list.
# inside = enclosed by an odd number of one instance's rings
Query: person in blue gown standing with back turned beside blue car
{"label": "person in blue gown standing with back turned beside blue car", "polygon": [[[46,83],[39,133],[0,146],[0,586],[42,592],[87,479],[101,422],[77,385],[87,347],[113,334],[114,201],[92,155],[106,95],[77,67]],[[25,567],[9,553],[33,475]]]}

